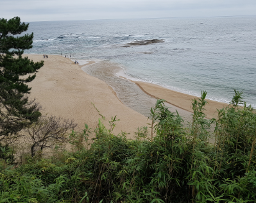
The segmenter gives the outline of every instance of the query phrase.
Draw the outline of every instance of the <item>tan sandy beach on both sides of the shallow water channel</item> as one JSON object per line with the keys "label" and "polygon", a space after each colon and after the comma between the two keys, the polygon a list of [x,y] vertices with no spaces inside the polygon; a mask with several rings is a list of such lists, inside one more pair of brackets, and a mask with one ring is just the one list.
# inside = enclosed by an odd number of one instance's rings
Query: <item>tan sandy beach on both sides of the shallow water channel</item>
{"label": "tan sandy beach on both sides of the shallow water channel", "polygon": [[[36,101],[42,105],[44,115],[74,119],[80,129],[83,129],[85,123],[91,129],[95,129],[99,118],[108,127],[108,120],[116,115],[119,121],[116,122],[114,133],[124,131],[128,133],[127,138],[133,138],[137,127],[148,126],[148,118],[125,106],[107,83],[81,70],[81,67],[90,65],[94,63],[93,61],[85,65],[76,65],[74,61],[62,56],[49,55],[49,58],[37,54],[25,56],[33,61],[44,60],[44,67],[29,84],[32,87],[30,97],[36,98]],[[191,115],[191,100],[194,96],[150,83],[138,81],[135,83],[151,97],[165,99],[175,109],[183,111],[183,115]],[[227,105],[215,101],[208,102],[207,118],[212,118],[217,108]]]}

